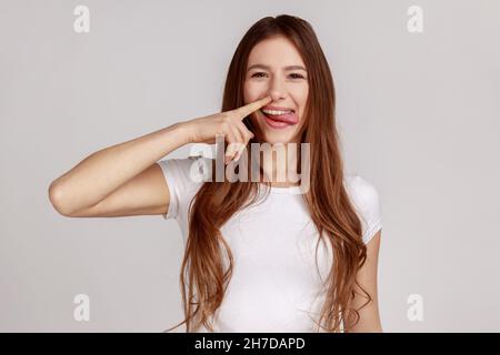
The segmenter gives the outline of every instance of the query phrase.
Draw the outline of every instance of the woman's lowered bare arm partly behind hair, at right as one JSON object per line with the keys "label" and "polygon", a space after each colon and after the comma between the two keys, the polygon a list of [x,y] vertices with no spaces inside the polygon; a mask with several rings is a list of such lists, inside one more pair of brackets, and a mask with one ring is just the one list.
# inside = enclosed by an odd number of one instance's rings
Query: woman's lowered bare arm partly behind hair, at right
{"label": "woman's lowered bare arm partly behind hair, at right", "polygon": [[[354,325],[349,333],[381,333],[378,291],[377,291],[377,268],[379,260],[381,230],[367,244],[367,261],[358,272],[358,281],[361,286],[370,294],[372,302],[359,311],[359,323]],[[360,295],[358,294],[360,293]],[[352,305],[354,308],[361,307],[367,302],[364,293],[357,290]]]}

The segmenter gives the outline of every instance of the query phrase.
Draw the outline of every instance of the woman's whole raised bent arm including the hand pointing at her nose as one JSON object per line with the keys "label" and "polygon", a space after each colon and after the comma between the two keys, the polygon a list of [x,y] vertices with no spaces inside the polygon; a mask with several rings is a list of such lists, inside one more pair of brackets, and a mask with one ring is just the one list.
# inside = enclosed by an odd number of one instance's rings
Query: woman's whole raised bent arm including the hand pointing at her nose
{"label": "woman's whole raised bent arm including the hand pointing at her nose", "polygon": [[234,159],[234,145],[246,146],[253,135],[242,120],[269,101],[176,123],[92,153],[50,184],[50,202],[74,217],[163,214],[169,186],[156,162],[188,143],[214,143],[218,134],[230,143],[227,158]]}

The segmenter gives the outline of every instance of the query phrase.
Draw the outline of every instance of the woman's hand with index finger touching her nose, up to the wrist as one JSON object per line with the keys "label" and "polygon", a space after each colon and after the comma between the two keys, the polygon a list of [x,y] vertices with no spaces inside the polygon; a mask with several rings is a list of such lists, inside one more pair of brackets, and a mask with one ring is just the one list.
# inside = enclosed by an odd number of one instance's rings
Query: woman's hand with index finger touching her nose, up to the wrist
{"label": "woman's hand with index finger touching her nose, up to the wrist", "polygon": [[213,144],[218,135],[223,135],[228,145],[230,144],[224,152],[224,163],[229,163],[232,159],[238,160],[253,138],[253,133],[242,122],[243,119],[271,101],[271,97],[266,97],[231,111],[182,122],[187,128],[188,141]]}

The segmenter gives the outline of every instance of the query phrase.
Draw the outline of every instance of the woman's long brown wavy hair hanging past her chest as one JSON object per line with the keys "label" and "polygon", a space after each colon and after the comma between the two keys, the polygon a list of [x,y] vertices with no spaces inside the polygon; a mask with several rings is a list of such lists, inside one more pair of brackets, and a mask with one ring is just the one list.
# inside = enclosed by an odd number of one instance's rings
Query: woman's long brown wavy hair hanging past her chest
{"label": "woman's long brown wavy hair hanging past her chest", "polygon": [[[372,300],[357,281],[357,273],[367,258],[367,246],[361,237],[361,222],[343,185],[332,74],[309,22],[281,14],[266,17],[248,30],[229,65],[222,111],[244,104],[243,83],[250,51],[258,42],[274,36],[291,40],[308,69],[306,124],[299,132],[301,142],[310,144],[310,187],[303,199],[320,237],[331,243],[333,252],[317,324],[327,332],[348,332],[359,322],[360,308],[351,307],[352,298],[359,294],[357,286],[368,298],[361,307]],[[259,142],[258,128],[252,125],[249,116],[243,122],[256,133],[249,144]],[[259,182],[216,182],[212,179],[201,185],[191,201],[180,275],[184,320],[177,325],[186,323],[187,332],[196,332],[201,325],[213,332],[211,315],[222,303],[233,268],[231,250],[220,227],[236,212],[256,201],[261,185]],[[224,256],[229,261],[228,267],[222,260]]]}

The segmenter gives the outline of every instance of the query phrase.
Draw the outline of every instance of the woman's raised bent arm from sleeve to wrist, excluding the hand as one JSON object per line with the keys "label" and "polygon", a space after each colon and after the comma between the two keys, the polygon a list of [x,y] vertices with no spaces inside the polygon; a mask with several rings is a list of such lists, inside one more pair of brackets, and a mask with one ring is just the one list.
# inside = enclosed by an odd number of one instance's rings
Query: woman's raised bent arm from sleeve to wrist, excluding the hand
{"label": "woman's raised bent arm from sleeve to wrist, excluding the hand", "polygon": [[161,213],[169,193],[153,163],[188,142],[187,128],[176,123],[97,151],[50,184],[50,202],[67,216]]}

